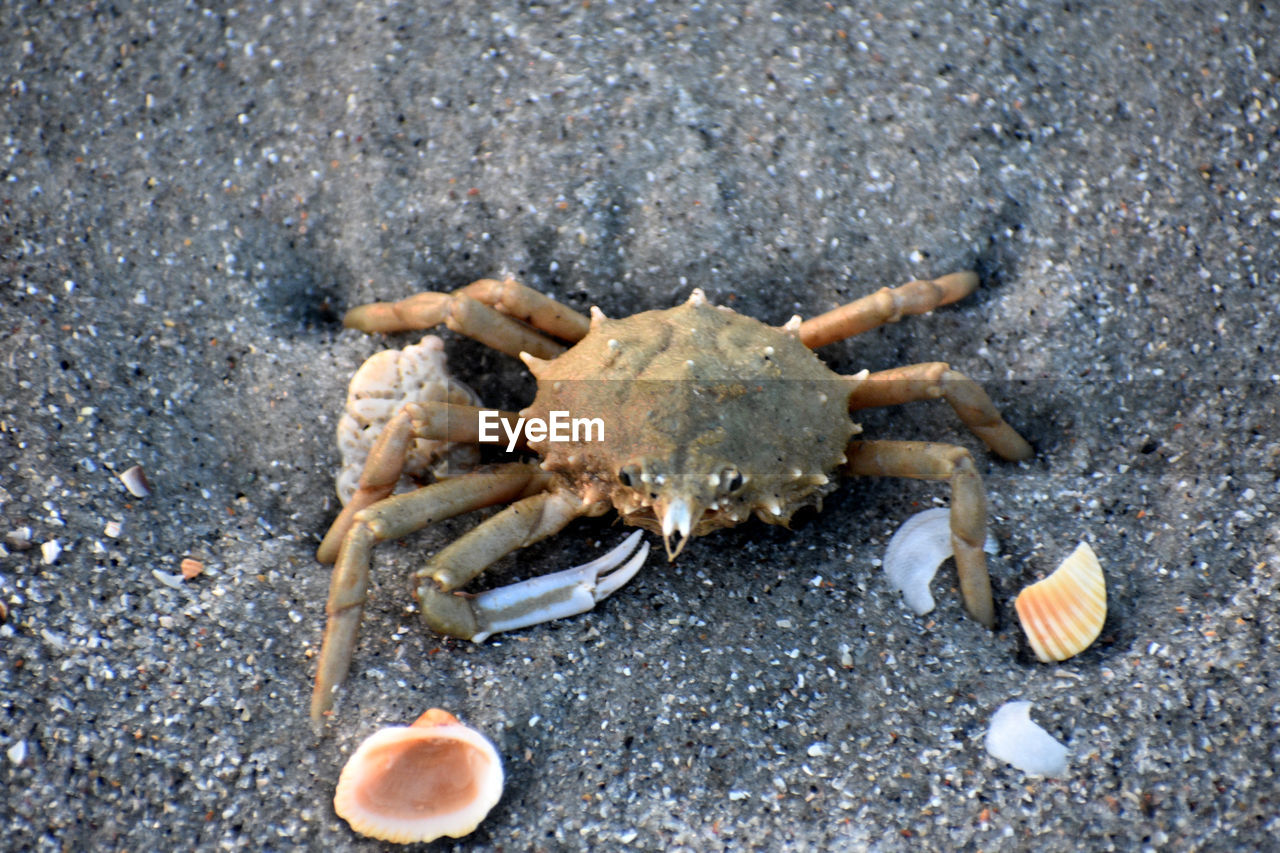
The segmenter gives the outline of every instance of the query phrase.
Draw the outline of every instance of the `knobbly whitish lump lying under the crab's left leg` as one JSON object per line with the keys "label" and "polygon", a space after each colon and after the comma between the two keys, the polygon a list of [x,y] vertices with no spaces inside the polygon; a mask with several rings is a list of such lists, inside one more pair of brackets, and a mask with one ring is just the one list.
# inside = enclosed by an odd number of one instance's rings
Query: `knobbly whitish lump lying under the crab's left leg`
{"label": "knobbly whitish lump lying under the crab's left leg", "polygon": [[[434,334],[403,350],[384,350],[360,365],[347,387],[347,407],[338,421],[338,498],[346,505],[356,493],[374,441],[407,402],[453,402],[479,406],[476,393],[449,377],[444,342]],[[404,460],[397,491],[415,488],[428,475],[458,474],[480,461],[471,444],[417,441]]]}

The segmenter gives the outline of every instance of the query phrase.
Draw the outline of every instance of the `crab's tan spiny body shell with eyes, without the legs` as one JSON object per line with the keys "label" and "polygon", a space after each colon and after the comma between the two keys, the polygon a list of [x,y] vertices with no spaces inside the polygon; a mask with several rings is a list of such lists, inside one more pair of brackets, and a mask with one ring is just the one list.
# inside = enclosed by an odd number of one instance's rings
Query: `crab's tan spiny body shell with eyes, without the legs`
{"label": "crab's tan spiny body shell with eyes, without the legs", "polygon": [[865,375],[829,370],[797,329],[713,306],[701,291],[618,320],[594,311],[588,336],[559,357],[525,356],[538,394],[521,415],[599,418],[604,439],[529,447],[585,502],[660,533],[672,556],[753,512],[785,525],[836,488],[828,474],[860,432],[849,396]]}

